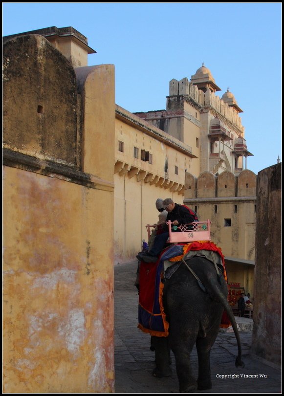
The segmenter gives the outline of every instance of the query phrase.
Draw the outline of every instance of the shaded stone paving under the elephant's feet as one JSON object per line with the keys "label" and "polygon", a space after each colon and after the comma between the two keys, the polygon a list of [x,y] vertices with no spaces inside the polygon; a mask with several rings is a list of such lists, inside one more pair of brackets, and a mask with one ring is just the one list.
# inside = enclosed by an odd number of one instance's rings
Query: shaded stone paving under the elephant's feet
{"label": "shaded stone paving under the elephant's feet", "polygon": [[[173,376],[155,378],[152,375],[155,365],[154,352],[149,348],[150,335],[137,329],[138,295],[133,286],[136,269],[137,261],[114,268],[115,393],[178,393],[173,353]],[[238,317],[236,320],[240,326],[245,367],[235,367],[237,342],[234,332],[219,331],[211,350],[213,388],[197,393],[282,393],[281,369],[250,355],[253,320]],[[195,349],[192,367],[197,376]]]}

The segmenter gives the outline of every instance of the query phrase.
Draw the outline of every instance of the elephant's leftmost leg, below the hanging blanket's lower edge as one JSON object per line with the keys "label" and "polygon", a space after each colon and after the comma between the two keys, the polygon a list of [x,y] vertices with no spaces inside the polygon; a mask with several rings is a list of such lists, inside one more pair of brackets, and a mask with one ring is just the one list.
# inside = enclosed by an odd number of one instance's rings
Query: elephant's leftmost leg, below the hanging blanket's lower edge
{"label": "elephant's leftmost leg, below the hanging blanket's lower edge", "polygon": [[155,349],[155,364],[153,370],[154,377],[169,377],[172,375],[170,368],[170,347],[168,337],[151,337],[151,345]]}

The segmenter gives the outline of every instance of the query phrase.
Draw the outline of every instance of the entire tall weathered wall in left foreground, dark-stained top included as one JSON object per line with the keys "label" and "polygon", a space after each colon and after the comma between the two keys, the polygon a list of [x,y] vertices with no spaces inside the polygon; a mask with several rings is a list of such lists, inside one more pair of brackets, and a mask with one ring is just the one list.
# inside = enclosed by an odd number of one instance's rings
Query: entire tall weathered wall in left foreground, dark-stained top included
{"label": "entire tall weathered wall in left foreground, dark-stained top included", "polygon": [[41,36],[6,45],[3,392],[111,393],[114,67],[76,79]]}

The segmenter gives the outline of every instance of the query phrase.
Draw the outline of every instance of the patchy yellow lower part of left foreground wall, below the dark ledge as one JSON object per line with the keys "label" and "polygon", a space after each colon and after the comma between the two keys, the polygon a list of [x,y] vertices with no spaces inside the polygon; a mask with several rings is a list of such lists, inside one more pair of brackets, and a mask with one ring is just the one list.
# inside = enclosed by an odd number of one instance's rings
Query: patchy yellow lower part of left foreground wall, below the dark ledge
{"label": "patchy yellow lower part of left foreground wall, below the dark ledge", "polygon": [[113,234],[98,233],[95,208],[111,208],[112,193],[6,166],[3,176],[4,393],[109,393]]}

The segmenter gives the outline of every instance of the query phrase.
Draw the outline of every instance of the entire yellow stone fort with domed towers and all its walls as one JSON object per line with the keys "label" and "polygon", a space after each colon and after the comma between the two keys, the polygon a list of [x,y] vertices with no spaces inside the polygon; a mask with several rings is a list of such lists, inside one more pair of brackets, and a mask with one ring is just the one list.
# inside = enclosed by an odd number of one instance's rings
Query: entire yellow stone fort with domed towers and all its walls
{"label": "entire yellow stone fort with domed towers and all its walls", "polygon": [[[261,337],[279,332],[279,255],[274,281],[266,268],[280,164],[260,180],[247,169],[242,110],[204,65],[170,81],[166,110],[132,114],[114,103],[113,65],[87,66],[94,52],[71,27],[4,38],[5,392],[113,392],[113,264],[140,250],[159,197],[212,221],[229,280],[258,296],[254,351],[278,362],[278,338],[271,351]],[[260,213],[271,238],[256,243]]]}

